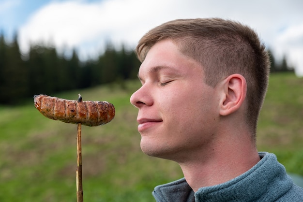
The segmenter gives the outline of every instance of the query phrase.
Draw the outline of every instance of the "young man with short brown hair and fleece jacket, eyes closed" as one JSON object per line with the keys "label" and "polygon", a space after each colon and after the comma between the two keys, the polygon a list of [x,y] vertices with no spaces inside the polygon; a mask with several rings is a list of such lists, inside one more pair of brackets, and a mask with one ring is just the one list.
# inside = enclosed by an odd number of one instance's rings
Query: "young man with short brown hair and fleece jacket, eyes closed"
{"label": "young man with short brown hair and fleece jacket, eyes closed", "polygon": [[179,163],[184,178],[157,202],[303,201],[273,154],[256,148],[270,61],[257,34],[219,18],[174,20],[139,41],[141,149]]}

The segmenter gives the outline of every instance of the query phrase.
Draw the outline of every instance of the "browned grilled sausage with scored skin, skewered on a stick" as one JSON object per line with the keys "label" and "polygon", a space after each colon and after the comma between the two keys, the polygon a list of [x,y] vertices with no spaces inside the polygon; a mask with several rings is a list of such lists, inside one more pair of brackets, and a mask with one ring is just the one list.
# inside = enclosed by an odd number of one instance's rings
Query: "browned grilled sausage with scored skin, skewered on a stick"
{"label": "browned grilled sausage with scored skin, skewered on a stick", "polygon": [[85,126],[103,125],[115,116],[114,105],[107,101],[73,101],[35,95],[34,104],[47,118]]}

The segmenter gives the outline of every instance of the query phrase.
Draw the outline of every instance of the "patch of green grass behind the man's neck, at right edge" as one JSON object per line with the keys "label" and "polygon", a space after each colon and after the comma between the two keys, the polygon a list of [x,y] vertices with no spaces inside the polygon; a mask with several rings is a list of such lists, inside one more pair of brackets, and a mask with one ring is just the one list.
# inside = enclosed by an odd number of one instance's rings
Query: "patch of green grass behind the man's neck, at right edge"
{"label": "patch of green grass behind the man's neck, at right edge", "polygon": [[289,173],[303,175],[303,78],[270,77],[257,133],[258,150],[273,152]]}

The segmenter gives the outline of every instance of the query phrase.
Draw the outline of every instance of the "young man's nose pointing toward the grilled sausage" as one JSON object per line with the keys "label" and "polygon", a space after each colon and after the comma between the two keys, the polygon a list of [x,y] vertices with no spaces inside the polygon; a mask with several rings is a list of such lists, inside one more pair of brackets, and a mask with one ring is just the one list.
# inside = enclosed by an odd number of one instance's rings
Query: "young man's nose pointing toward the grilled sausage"
{"label": "young man's nose pointing toward the grilled sausage", "polygon": [[136,108],[141,108],[142,106],[152,105],[152,94],[144,85],[140,87],[130,98],[130,102]]}

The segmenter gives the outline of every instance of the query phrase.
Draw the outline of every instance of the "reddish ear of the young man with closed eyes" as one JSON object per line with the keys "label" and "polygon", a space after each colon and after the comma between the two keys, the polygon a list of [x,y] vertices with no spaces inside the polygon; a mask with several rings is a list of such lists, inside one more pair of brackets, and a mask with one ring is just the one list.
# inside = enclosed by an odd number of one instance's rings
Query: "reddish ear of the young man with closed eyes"
{"label": "reddish ear of the young man with closed eyes", "polygon": [[232,74],[224,79],[221,89],[220,115],[230,115],[243,104],[247,85],[241,74]]}

